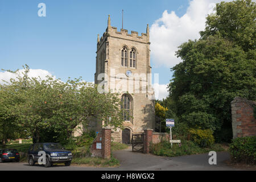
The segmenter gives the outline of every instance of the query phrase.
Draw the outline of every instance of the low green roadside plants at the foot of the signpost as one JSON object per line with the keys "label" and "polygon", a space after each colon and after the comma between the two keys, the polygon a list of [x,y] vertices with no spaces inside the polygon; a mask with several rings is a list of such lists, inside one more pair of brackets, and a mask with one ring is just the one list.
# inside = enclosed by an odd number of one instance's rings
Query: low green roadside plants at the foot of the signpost
{"label": "low green roadside plants at the foot of the signpost", "polygon": [[189,140],[181,140],[181,144],[174,143],[172,144],[172,148],[171,144],[168,142],[152,144],[150,147],[151,154],[168,157],[204,154],[212,150],[218,152],[224,151],[225,149],[221,146],[221,144],[213,144],[210,147],[201,148]]}

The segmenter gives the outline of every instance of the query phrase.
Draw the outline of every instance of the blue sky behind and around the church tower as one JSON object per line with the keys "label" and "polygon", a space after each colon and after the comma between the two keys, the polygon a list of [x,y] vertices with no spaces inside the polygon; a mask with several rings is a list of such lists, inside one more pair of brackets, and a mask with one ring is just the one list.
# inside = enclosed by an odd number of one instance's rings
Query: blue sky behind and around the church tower
{"label": "blue sky behind and around the church tower", "polygon": [[[42,2],[46,4],[46,17],[38,16],[38,4]],[[180,60],[175,62],[175,56],[170,59],[170,55],[161,52],[164,49],[161,46],[166,44],[165,52],[173,52],[171,47],[175,49],[188,38],[198,38],[189,34],[192,31],[198,34],[198,30],[182,27],[188,24],[182,18],[188,14],[190,19],[186,20],[193,22],[197,8],[204,9],[210,2],[216,1],[0,0],[0,68],[15,70],[28,64],[31,69],[46,70],[63,81],[80,76],[85,81],[94,81],[97,34],[102,35],[106,30],[108,14],[112,26],[120,30],[123,9],[123,28],[129,32],[141,34],[146,32],[147,23],[150,25],[152,73],[159,73],[159,84],[168,84],[172,76],[170,68]],[[172,24],[175,19],[178,24]],[[172,25],[179,27],[179,22],[181,29],[173,30]],[[200,26],[204,27],[204,23]],[[174,40],[174,31],[188,33]]]}

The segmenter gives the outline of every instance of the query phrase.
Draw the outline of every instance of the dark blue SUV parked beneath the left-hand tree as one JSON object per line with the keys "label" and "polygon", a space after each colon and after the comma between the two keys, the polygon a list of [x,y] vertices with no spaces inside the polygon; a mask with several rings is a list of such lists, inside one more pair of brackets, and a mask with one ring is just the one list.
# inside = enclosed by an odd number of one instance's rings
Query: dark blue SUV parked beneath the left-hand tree
{"label": "dark blue SUV parked beneath the left-hand tree", "polygon": [[73,159],[71,151],[65,150],[59,143],[34,143],[28,150],[27,159],[30,166],[34,166],[41,155],[39,151],[46,152],[45,167],[50,167],[54,163],[64,163],[65,166],[70,166]]}

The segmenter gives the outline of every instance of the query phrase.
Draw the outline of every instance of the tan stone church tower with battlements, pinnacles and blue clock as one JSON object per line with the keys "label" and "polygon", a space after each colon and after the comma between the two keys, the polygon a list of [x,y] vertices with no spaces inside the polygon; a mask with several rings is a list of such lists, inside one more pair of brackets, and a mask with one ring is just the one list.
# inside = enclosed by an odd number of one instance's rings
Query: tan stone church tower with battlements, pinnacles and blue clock
{"label": "tan stone church tower with battlements, pinnacles and blue clock", "polygon": [[[154,91],[151,88],[150,34],[108,27],[97,38],[95,84],[104,84],[105,92],[120,93],[124,130],[113,131],[115,142],[130,143],[132,134],[154,129]],[[102,81],[103,80],[103,81]]]}

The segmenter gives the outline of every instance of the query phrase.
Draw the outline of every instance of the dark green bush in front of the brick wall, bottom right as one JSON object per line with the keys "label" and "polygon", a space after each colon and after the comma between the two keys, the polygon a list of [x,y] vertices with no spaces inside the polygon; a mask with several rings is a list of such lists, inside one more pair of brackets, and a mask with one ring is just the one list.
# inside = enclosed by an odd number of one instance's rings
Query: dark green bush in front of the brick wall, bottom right
{"label": "dark green bush in front of the brick wall, bottom right", "polygon": [[256,164],[256,136],[233,139],[229,151],[233,162]]}

